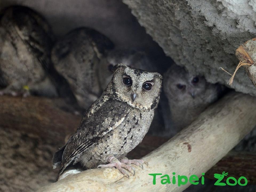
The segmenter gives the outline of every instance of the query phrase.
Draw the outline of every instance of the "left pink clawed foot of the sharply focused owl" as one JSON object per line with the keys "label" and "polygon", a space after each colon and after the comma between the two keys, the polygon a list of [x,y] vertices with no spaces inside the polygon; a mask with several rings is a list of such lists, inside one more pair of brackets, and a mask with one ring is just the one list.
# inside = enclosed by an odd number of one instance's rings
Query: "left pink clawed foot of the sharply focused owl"
{"label": "left pink clawed foot of the sharply focused owl", "polygon": [[[97,168],[104,168],[104,167],[116,167],[123,175],[125,175],[125,177],[127,177],[129,179],[129,175],[128,173],[125,171],[125,169],[129,170],[130,172],[133,171],[133,175],[135,175],[135,169],[134,167],[130,166],[130,165],[126,165],[125,163],[122,163],[120,161],[118,161],[117,158],[115,158],[114,156],[110,156],[109,158],[109,164],[107,165],[98,165]],[[125,168],[125,169],[124,169]]]}

